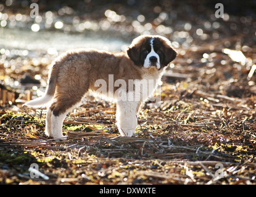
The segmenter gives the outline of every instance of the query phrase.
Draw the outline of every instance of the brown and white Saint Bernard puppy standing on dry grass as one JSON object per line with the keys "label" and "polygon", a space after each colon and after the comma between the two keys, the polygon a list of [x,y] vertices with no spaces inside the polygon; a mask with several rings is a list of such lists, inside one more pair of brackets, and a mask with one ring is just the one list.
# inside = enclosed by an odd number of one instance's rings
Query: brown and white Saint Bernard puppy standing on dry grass
{"label": "brown and white Saint Bernard puppy standing on dry grass", "polygon": [[[43,97],[24,105],[47,107],[45,133],[54,139],[63,139],[65,116],[90,90],[117,103],[118,131],[130,137],[137,126],[139,107],[154,93],[165,67],[175,57],[176,51],[167,38],[149,35],[135,38],[123,52],[69,50],[52,62]],[[142,86],[141,81],[153,83]],[[139,84],[137,90],[136,84]]]}

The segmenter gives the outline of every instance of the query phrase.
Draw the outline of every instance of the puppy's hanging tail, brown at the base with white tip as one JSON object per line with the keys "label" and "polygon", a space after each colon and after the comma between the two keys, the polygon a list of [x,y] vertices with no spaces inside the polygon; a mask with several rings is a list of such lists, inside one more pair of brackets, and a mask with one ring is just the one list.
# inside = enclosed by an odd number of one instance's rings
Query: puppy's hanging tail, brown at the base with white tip
{"label": "puppy's hanging tail, brown at the base with white tip", "polygon": [[46,88],[46,92],[43,95],[43,97],[35,98],[34,100],[30,100],[29,102],[24,103],[23,105],[26,105],[29,107],[48,107],[49,103],[54,97],[58,73],[59,73],[59,66],[56,64],[52,66],[51,71],[49,72],[48,86]]}

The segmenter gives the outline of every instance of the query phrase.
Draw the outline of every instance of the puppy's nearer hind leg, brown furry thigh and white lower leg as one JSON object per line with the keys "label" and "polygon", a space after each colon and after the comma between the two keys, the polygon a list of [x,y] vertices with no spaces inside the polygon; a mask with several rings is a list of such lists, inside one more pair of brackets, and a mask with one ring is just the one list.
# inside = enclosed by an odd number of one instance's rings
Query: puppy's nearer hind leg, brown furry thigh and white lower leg
{"label": "puppy's nearer hind leg, brown furry thigh and white lower leg", "polygon": [[59,74],[54,94],[54,101],[50,107],[51,137],[62,138],[62,124],[68,112],[73,110],[88,91],[88,79],[86,73],[78,72],[76,66],[68,65],[67,70]]}

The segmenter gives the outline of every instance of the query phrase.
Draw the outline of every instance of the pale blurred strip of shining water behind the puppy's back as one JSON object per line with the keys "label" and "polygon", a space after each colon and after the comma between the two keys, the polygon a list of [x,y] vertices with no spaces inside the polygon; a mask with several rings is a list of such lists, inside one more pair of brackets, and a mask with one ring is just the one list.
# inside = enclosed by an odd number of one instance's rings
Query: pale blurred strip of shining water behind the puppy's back
{"label": "pale blurred strip of shining water behind the puppy's back", "polygon": [[[122,50],[127,42],[117,38],[104,38],[97,34],[67,34],[61,31],[0,28],[0,49],[46,50],[49,54],[76,47],[93,47],[105,50]],[[27,52],[24,54],[28,55]]]}

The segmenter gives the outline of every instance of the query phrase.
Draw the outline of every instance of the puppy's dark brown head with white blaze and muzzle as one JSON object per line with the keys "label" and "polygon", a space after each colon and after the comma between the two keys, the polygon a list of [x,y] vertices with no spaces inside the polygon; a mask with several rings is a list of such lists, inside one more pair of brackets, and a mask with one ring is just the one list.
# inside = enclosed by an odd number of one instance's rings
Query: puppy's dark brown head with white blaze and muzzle
{"label": "puppy's dark brown head with white blaze and muzzle", "polygon": [[167,38],[139,36],[131,42],[127,54],[135,65],[144,66],[144,68],[154,66],[160,70],[175,59],[177,52]]}

